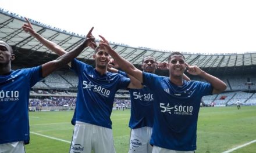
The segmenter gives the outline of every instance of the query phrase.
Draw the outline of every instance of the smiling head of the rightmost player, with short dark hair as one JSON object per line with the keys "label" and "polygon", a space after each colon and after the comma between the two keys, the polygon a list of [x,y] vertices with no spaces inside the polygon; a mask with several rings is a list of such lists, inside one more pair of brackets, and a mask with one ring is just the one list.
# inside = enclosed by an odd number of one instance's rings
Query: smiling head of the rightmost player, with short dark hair
{"label": "smiling head of the rightmost player, with short dark hair", "polygon": [[171,76],[173,77],[182,76],[185,70],[186,70],[186,64],[182,55],[175,54],[170,57],[169,71]]}

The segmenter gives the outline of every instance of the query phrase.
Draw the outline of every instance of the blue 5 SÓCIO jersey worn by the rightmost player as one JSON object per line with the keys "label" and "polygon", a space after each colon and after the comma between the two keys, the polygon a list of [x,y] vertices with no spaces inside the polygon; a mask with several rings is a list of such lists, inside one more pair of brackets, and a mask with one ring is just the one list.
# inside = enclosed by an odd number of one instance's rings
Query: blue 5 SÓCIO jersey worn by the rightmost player
{"label": "blue 5 S\u00d3CIO jersey worn by the rightmost player", "polygon": [[154,126],[150,143],[177,151],[196,150],[197,119],[202,96],[212,94],[210,83],[183,80],[143,72],[143,83],[154,94]]}

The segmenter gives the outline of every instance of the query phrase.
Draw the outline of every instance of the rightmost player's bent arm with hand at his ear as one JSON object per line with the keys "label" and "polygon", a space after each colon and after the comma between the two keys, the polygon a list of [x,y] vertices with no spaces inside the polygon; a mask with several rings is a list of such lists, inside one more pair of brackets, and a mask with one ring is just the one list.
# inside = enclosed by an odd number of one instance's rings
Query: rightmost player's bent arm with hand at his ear
{"label": "rightmost player's bent arm with hand at his ear", "polygon": [[200,77],[204,78],[207,82],[211,83],[211,85],[214,87],[214,90],[212,93],[221,93],[223,92],[226,88],[227,85],[225,82],[221,81],[221,79],[214,77],[211,74],[208,74],[205,71],[202,71],[199,67],[197,66],[190,66],[186,64],[188,67],[187,72],[191,75],[199,75]]}

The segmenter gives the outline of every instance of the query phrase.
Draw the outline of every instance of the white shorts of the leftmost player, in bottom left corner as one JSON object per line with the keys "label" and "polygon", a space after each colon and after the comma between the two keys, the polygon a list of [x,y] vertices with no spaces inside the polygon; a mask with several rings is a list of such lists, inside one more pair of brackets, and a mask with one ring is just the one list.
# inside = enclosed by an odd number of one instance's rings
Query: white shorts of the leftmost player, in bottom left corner
{"label": "white shorts of the leftmost player, in bottom left corner", "polygon": [[23,141],[17,141],[13,143],[0,144],[1,153],[25,153],[25,147]]}

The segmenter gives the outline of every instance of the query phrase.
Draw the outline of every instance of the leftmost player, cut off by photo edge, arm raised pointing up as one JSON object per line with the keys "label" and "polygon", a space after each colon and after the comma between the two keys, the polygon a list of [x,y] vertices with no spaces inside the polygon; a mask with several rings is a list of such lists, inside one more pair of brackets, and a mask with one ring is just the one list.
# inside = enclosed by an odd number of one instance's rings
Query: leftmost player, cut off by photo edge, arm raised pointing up
{"label": "leftmost player, cut off by photo edge, arm raised pointing up", "polygon": [[[88,35],[91,36],[90,30]],[[12,47],[0,41],[0,152],[23,153],[29,144],[30,88],[52,71],[69,63],[94,41],[89,37],[76,49],[37,67],[12,70]]]}

